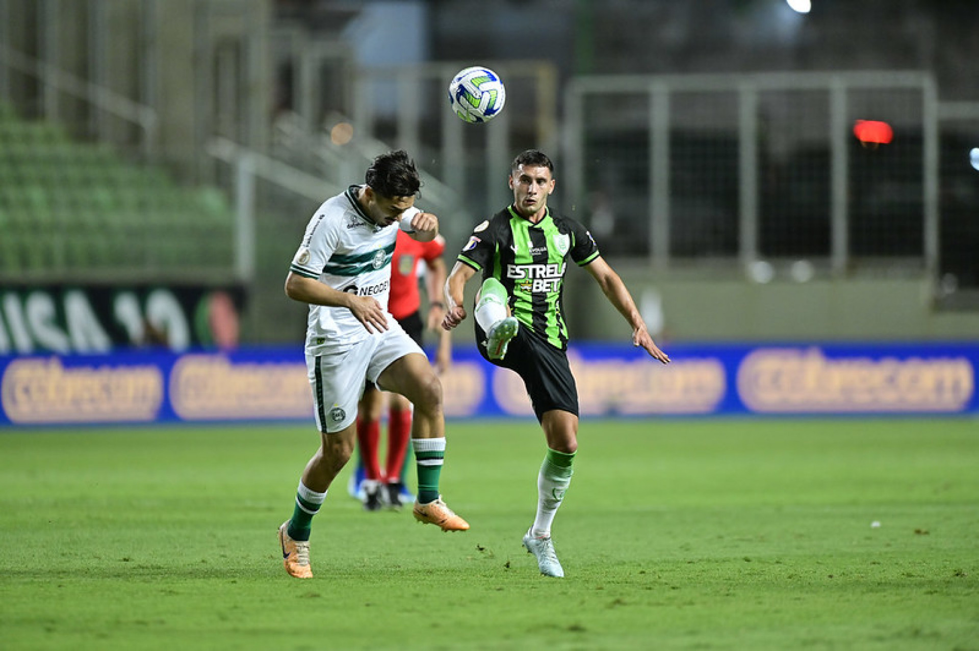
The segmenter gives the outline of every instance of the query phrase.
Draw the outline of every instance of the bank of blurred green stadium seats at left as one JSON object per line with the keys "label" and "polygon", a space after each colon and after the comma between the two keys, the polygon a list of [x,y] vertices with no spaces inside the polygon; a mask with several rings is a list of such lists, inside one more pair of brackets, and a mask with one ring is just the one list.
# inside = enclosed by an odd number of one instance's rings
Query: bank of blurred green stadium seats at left
{"label": "bank of blurred green stadium seats at left", "polygon": [[[72,141],[61,125],[21,120],[0,103],[0,272],[228,270],[233,228],[220,191],[179,187],[163,167]],[[62,237],[32,237],[42,230]]]}

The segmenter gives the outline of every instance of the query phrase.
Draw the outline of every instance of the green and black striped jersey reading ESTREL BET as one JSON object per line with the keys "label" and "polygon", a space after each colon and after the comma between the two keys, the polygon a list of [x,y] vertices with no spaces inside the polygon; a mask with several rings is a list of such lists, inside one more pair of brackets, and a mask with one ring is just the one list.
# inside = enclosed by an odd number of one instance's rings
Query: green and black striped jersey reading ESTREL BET
{"label": "green and black striped jersey reading ESTREL BET", "polygon": [[502,282],[513,316],[552,346],[567,350],[562,304],[567,260],[583,267],[597,257],[595,240],[575,220],[552,215],[548,208],[532,224],[511,205],[473,230],[458,260],[482,272],[483,280]]}

